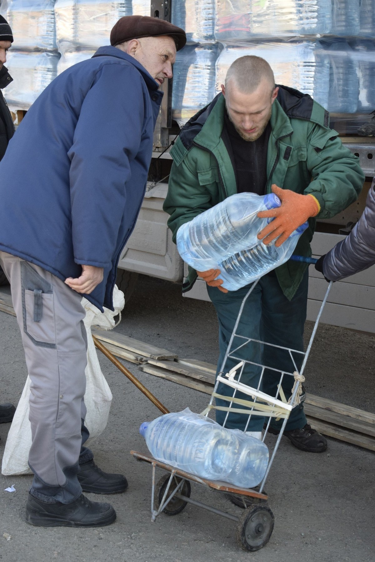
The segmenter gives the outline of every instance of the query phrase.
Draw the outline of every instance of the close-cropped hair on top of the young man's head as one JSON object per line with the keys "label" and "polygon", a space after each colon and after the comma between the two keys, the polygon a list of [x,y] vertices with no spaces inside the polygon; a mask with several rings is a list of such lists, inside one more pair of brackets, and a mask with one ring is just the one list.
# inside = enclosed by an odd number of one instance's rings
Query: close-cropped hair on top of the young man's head
{"label": "close-cropped hair on top of the young man's head", "polygon": [[225,91],[228,93],[232,85],[243,94],[252,94],[261,83],[269,84],[269,94],[275,89],[275,78],[268,62],[261,57],[245,56],[235,60],[229,66],[225,77]]}

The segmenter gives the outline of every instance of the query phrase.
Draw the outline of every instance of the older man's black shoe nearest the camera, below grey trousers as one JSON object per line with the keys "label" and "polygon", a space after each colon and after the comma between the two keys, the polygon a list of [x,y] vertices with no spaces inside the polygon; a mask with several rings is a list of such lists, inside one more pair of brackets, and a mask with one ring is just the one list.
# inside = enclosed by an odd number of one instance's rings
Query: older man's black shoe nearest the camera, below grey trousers
{"label": "older man's black shoe nearest the camera, below grey trousers", "polygon": [[110,504],[90,501],[83,494],[70,504],[49,504],[29,493],[26,523],[37,527],[104,527],[116,519]]}

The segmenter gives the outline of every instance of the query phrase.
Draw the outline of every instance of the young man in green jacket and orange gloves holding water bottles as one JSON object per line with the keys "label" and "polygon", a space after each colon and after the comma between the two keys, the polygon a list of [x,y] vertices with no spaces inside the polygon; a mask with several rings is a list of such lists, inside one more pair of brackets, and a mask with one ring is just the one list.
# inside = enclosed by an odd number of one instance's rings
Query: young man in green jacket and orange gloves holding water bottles
{"label": "young man in green jacket and orange gloves holding water bottles", "polygon": [[[356,200],[364,176],[356,158],[342,146],[338,134],[329,129],[329,114],[322,106],[285,86],[276,86],[273,71],[263,58],[238,58],[228,69],[222,93],[210,105],[192,117],[182,129],[171,150],[168,196],[164,209],[170,215],[168,225],[176,239],[179,227],[201,212],[234,193],[259,195],[273,191],[281,207],[259,214],[273,217],[258,234],[269,243],[277,238],[280,246],[306,220],[309,227],[301,235],[296,254],[310,256],[316,218],[328,219]],[[191,289],[197,275],[207,283],[219,320],[221,368],[243,297],[250,285],[230,291],[220,287],[219,270],[194,271],[183,291]],[[237,333],[274,346],[303,351],[303,332],[308,298],[308,265],[288,261],[264,275],[246,301]],[[279,375],[272,368],[292,373],[295,366],[287,353],[278,347],[254,348],[253,360],[266,365],[263,391],[275,396]],[[246,359],[250,359],[247,355]],[[294,354],[297,369],[302,356]],[[228,362],[229,370],[237,361]],[[260,369],[246,365],[242,382],[257,387]],[[284,377],[283,390],[291,396],[292,377]],[[220,395],[232,396],[233,390],[220,384]],[[237,396],[238,395],[237,393]],[[245,397],[245,396],[243,396]],[[227,400],[216,400],[228,406]],[[225,411],[216,410],[223,423]],[[227,427],[245,429],[248,416],[231,414]],[[252,416],[246,428],[261,437],[264,418]],[[274,418],[270,431],[279,433],[281,421]],[[302,451],[322,452],[326,439],[311,429],[303,403],[288,419],[284,435]]]}

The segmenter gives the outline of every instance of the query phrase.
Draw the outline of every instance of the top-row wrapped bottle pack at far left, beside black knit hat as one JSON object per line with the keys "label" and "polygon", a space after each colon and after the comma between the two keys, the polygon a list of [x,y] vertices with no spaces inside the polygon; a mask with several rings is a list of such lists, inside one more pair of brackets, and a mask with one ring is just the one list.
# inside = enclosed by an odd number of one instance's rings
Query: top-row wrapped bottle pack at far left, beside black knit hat
{"label": "top-row wrapped bottle pack at far left, beside black knit hat", "polygon": [[6,19],[17,49],[56,49],[56,0],[10,0]]}

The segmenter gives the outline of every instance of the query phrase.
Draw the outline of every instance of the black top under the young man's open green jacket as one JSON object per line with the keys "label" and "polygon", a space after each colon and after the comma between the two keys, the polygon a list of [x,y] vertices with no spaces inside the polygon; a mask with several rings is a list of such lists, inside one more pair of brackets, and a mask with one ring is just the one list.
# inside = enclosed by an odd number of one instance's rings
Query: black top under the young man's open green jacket
{"label": "black top under the young man's open green jacket", "polygon": [[222,139],[232,160],[237,193],[265,194],[267,183],[267,147],[270,124],[257,140],[244,140],[234,128],[227,111],[224,114]]}

